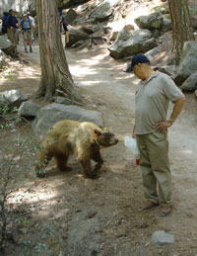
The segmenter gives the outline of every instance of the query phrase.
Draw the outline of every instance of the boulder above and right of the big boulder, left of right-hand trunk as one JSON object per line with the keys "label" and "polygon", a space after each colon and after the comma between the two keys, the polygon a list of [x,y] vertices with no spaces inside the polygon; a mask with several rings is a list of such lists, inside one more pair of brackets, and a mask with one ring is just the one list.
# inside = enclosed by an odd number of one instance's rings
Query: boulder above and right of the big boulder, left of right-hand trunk
{"label": "boulder above and right of the big boulder, left of right-hand trunk", "polygon": [[160,12],[156,12],[148,16],[139,16],[134,21],[140,29],[158,30],[163,24],[163,15]]}

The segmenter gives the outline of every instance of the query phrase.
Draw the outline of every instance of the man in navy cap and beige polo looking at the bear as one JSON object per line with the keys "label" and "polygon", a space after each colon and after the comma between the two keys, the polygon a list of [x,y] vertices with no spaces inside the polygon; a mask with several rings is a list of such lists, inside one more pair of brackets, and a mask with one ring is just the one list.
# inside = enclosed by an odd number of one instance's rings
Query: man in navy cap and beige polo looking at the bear
{"label": "man in navy cap and beige polo looking at the bear", "polygon": [[[136,136],[140,151],[140,166],[147,200],[142,210],[161,205],[160,215],[165,216],[171,212],[172,206],[167,128],[177,119],[185,98],[170,77],[159,71],[155,72],[145,55],[133,56],[126,71],[132,70],[141,79],[135,96],[133,136]],[[174,105],[167,119],[169,101]]]}

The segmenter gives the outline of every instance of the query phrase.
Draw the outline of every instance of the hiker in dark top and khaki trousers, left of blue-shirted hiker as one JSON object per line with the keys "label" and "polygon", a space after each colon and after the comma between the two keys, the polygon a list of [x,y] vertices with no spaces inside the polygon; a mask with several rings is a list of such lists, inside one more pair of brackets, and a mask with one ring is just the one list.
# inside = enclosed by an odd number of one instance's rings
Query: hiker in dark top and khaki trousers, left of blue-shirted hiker
{"label": "hiker in dark top and khaki trousers, left of blue-shirted hiker", "polygon": [[17,12],[13,9],[9,10],[10,15],[8,15],[5,26],[7,27],[8,33],[8,40],[10,40],[13,44],[14,54],[18,56],[17,52],[17,43],[18,43],[18,36],[17,36],[17,29],[18,29],[18,20],[16,17]]}

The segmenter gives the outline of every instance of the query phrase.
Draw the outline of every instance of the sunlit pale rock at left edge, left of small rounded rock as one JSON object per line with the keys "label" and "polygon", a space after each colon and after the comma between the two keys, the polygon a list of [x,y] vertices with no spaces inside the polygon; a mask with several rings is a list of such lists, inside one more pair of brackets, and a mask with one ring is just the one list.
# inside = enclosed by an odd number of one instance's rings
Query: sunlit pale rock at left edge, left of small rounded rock
{"label": "sunlit pale rock at left edge, left of small rounded rock", "polygon": [[4,91],[1,92],[1,95],[9,102],[9,108],[11,109],[19,108],[23,102],[28,101],[28,96],[20,90]]}

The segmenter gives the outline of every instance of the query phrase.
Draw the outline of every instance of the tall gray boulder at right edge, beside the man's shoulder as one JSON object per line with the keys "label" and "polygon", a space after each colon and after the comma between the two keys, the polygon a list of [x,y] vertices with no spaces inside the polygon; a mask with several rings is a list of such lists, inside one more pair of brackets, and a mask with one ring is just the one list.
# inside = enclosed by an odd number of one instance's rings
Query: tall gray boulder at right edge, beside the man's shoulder
{"label": "tall gray boulder at right edge, beside the man's shoulder", "polygon": [[176,75],[173,77],[176,85],[180,86],[191,74],[197,71],[197,42],[185,42],[180,57]]}

